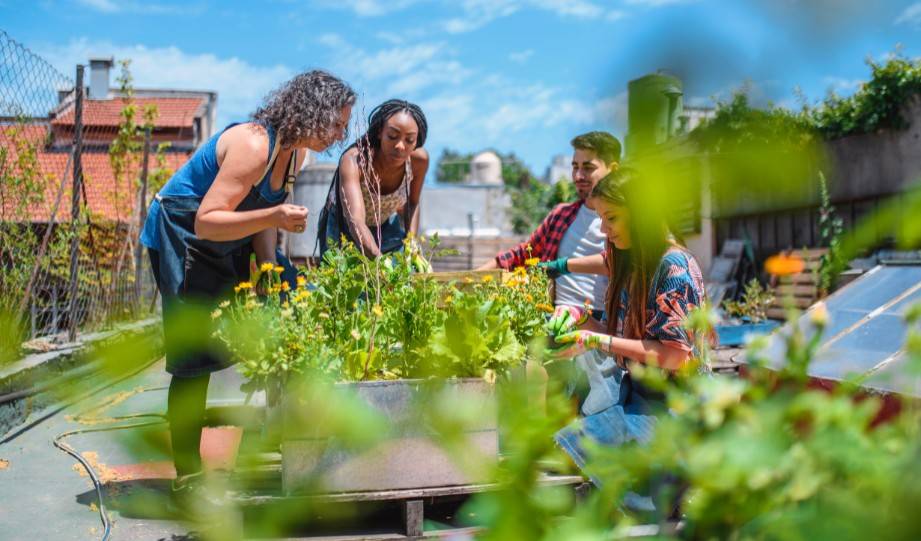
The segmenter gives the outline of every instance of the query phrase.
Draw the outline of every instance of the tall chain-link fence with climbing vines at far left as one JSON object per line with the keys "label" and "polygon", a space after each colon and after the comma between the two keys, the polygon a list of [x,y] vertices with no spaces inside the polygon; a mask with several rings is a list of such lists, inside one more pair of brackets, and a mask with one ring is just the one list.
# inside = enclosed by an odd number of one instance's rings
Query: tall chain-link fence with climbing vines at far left
{"label": "tall chain-link fence with climbing vines at far left", "polygon": [[73,338],[154,306],[138,232],[150,176],[168,175],[148,157],[157,111],[135,102],[126,70],[104,96],[87,95],[83,72],[0,30],[0,317],[17,350],[11,333]]}

